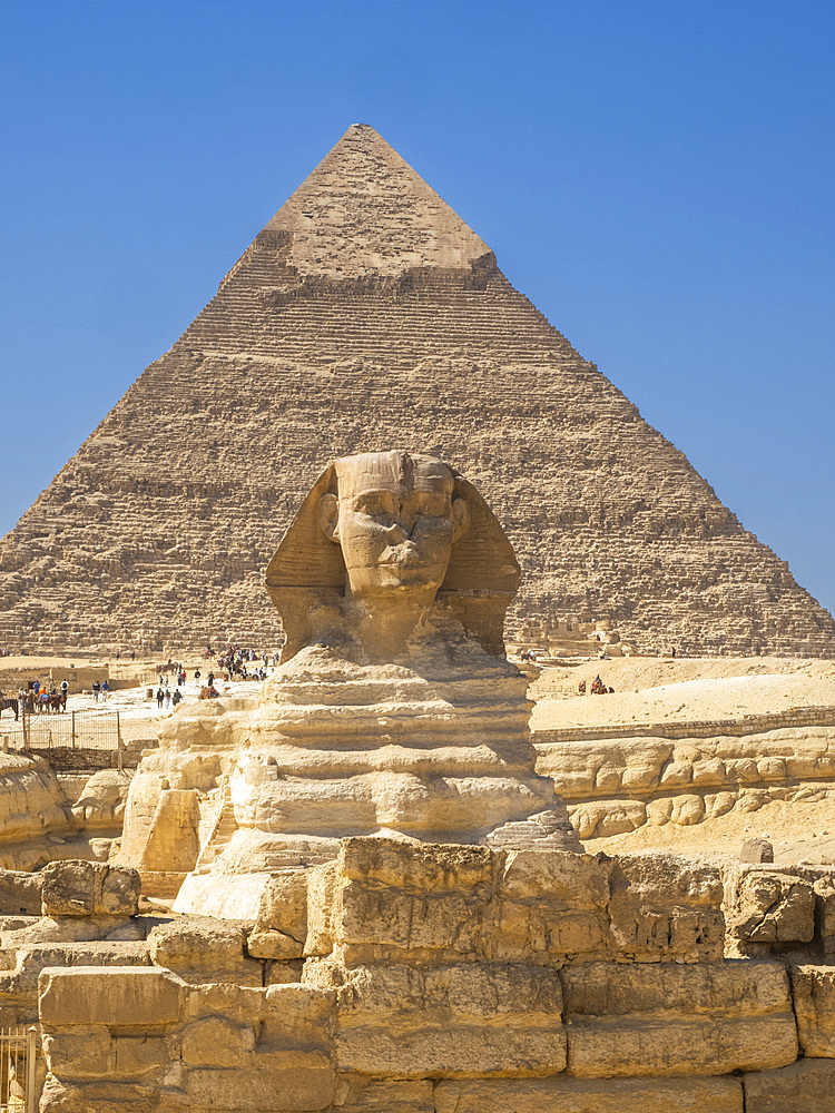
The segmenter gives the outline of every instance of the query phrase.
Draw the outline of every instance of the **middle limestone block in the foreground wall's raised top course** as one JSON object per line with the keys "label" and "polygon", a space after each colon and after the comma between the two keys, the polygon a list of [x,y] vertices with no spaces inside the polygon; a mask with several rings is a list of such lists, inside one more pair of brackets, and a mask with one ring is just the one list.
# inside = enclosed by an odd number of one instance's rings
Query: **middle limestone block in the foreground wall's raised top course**
{"label": "middle limestone block in the foreground wall's raised top course", "polygon": [[556,964],[606,952],[608,866],[588,855],[517,850],[500,880],[495,958]]}

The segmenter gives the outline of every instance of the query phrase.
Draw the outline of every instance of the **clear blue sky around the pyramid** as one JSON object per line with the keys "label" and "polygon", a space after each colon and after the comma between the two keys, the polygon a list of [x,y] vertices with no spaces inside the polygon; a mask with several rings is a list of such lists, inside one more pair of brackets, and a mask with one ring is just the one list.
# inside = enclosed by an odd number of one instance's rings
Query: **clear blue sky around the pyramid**
{"label": "clear blue sky around the pyramid", "polygon": [[0,534],[364,122],[832,610],[834,52],[833,0],[4,0]]}

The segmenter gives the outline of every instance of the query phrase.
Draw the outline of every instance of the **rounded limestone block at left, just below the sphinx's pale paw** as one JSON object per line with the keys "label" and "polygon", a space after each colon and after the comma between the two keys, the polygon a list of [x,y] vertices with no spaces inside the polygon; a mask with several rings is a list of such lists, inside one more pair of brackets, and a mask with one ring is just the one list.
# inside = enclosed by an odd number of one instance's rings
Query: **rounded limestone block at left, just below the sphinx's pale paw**
{"label": "rounded limestone block at left, just below the sphinx's pale paw", "polygon": [[245,940],[243,924],[184,916],[153,928],[148,953],[156,966],[175,971],[186,982],[259,986],[261,963],[246,957]]}

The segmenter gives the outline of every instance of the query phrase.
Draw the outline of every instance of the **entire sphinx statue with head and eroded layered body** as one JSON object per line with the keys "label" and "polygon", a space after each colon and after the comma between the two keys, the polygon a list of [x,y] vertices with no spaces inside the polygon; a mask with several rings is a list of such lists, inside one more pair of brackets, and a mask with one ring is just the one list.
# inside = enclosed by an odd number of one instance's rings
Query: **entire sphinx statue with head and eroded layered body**
{"label": "entire sphinx statue with head and eroded layered body", "polygon": [[483,498],[440,460],[331,463],[266,571],[281,666],[256,703],[165,722],[131,785],[122,859],[188,873],[179,905],[218,914],[224,893],[234,910],[271,870],[326,861],[348,836],[581,850],[534,771],[527,678],[504,654],[519,579]]}

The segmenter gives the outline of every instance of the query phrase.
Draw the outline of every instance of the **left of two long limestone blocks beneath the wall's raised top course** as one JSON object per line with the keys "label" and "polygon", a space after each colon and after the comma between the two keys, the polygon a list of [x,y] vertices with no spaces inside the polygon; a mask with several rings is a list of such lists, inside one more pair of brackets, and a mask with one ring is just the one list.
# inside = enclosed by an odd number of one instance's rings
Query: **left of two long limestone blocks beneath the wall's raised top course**
{"label": "left of two long limestone blocks beneath the wall's raised top course", "polygon": [[342,1071],[394,1077],[552,1074],[566,1065],[556,971],[360,967],[337,991]]}

